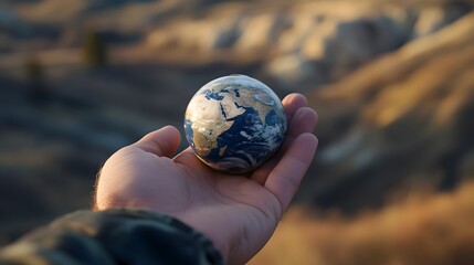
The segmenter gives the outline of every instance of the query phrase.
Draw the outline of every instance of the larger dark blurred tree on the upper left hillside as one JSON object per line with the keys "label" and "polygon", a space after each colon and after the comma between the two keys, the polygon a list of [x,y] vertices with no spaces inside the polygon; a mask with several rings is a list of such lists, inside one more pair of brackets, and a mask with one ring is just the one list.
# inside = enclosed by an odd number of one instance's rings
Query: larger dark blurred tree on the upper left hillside
{"label": "larger dark blurred tree on the upper left hillside", "polygon": [[82,52],[84,62],[89,66],[105,66],[107,64],[107,45],[96,31],[86,32]]}

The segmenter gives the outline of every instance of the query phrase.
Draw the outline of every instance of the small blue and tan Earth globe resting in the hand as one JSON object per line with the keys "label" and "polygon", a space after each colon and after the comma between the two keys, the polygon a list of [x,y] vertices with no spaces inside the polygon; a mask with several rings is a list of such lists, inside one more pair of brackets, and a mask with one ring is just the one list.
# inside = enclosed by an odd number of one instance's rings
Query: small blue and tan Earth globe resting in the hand
{"label": "small blue and tan Earth globe resting in the hand", "polygon": [[265,162],[287,128],[276,94],[245,75],[206,84],[189,102],[185,116],[186,138],[198,158],[228,173],[246,173]]}

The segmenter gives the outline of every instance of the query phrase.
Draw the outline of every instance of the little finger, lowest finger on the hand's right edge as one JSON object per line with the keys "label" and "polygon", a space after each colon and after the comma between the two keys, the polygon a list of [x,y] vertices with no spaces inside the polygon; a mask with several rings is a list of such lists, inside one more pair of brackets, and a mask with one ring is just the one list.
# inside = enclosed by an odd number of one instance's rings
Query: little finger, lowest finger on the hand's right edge
{"label": "little finger, lowest finger on the hand's right edge", "polygon": [[264,187],[276,197],[282,213],[288,208],[298,190],[299,183],[313,161],[317,144],[318,140],[313,134],[299,135],[270,173]]}

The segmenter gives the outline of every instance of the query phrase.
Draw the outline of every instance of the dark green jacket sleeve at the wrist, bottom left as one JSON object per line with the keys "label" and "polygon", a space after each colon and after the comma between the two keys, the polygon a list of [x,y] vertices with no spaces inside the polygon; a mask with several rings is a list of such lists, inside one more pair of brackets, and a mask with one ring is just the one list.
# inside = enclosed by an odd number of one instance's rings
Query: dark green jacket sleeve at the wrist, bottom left
{"label": "dark green jacket sleeve at the wrist, bottom left", "polygon": [[80,211],[0,251],[0,264],[223,264],[201,233],[169,216]]}

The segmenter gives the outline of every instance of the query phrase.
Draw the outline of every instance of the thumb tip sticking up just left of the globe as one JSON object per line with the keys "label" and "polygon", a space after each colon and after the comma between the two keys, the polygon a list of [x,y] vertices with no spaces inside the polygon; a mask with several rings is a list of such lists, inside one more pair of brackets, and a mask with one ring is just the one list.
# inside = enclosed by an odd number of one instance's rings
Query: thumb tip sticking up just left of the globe
{"label": "thumb tip sticking up just left of the globe", "polygon": [[131,146],[159,157],[170,157],[179,147],[181,136],[173,126],[165,126],[161,129],[149,132]]}

